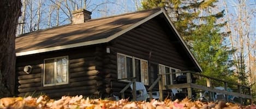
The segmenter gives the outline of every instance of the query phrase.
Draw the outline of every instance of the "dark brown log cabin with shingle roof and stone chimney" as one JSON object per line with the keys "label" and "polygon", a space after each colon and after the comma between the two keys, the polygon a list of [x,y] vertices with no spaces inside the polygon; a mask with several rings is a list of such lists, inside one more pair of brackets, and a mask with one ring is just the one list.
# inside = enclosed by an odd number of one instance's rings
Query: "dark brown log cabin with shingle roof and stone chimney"
{"label": "dark brown log cabin with shingle roof and stone chimney", "polygon": [[164,8],[90,15],[76,10],[72,24],[16,37],[17,95],[120,97],[130,78],[148,88],[158,74],[201,72]]}

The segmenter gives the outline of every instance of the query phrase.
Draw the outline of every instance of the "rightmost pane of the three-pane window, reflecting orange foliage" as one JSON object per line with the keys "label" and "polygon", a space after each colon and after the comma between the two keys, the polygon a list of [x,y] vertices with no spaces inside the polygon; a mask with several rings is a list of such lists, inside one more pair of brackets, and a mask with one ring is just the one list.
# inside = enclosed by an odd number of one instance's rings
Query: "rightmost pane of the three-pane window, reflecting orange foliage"
{"label": "rightmost pane of the three-pane window, reflecting orange foliage", "polygon": [[148,85],[147,61],[141,60],[141,82]]}

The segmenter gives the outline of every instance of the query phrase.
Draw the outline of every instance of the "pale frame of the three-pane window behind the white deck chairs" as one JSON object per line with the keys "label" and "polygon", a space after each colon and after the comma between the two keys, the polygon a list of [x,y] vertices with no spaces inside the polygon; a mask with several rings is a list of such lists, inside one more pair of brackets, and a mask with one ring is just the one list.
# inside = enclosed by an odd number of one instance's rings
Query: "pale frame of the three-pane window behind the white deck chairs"
{"label": "pale frame of the three-pane window behind the white deck chairs", "polygon": [[[126,62],[126,57],[130,57],[130,58],[132,58],[132,65],[133,65],[133,78],[135,78],[136,77],[136,74],[135,74],[135,59],[136,60],[140,60],[140,75],[141,75],[141,61],[146,61],[147,62],[147,77],[148,77],[148,61],[147,60],[144,60],[144,59],[140,59],[140,58],[138,58],[138,57],[134,57],[134,56],[129,56],[129,55],[126,55],[126,54],[122,54],[122,53],[117,53],[117,60],[118,60],[118,55],[122,55],[122,56],[124,56],[124,67],[125,67],[125,73],[127,74],[127,62]],[[141,77],[142,77],[142,75],[141,75]],[[127,78],[127,77],[126,77]],[[118,78],[118,62],[117,62],[117,79],[120,79],[120,78]],[[122,78],[122,75],[121,75],[121,79],[123,79]],[[149,79],[149,77],[148,77],[148,79]],[[121,80],[121,81],[127,81],[127,82],[130,82],[129,80]],[[142,79],[141,79],[141,81],[142,81]],[[141,82],[141,81],[139,81],[139,82]],[[144,80],[143,81],[145,81],[145,78],[144,78]],[[145,83],[145,82],[142,82],[142,83],[144,83],[144,85],[148,85],[149,84],[149,80],[147,80],[147,83]]]}

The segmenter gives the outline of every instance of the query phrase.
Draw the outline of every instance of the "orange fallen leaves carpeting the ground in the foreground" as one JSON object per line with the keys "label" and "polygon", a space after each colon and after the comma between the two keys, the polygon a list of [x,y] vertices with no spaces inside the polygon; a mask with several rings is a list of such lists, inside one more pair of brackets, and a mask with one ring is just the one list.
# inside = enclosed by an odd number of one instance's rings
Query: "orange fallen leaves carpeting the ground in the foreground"
{"label": "orange fallen leaves carpeting the ground in the foreground", "polygon": [[0,108],[2,109],[221,109],[221,108],[246,108],[256,109],[255,105],[241,107],[230,102],[200,102],[191,101],[190,99],[183,99],[181,101],[165,99],[164,101],[151,100],[146,101],[128,101],[128,99],[121,99],[118,101],[102,100],[102,99],[84,99],[82,95],[69,97],[63,96],[59,100],[52,100],[46,95],[39,98],[2,98],[0,99]]}

